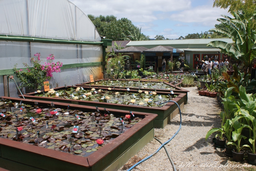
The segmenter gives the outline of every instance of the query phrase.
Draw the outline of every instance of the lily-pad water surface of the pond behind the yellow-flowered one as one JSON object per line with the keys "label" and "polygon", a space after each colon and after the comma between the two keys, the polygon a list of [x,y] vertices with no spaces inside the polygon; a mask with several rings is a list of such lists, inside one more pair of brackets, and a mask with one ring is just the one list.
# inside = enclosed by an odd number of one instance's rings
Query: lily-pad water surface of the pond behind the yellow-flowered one
{"label": "lily-pad water surface of the pond behind the yellow-flowered one", "polygon": [[[149,88],[149,89],[175,89],[164,82],[152,82],[157,80],[152,80],[148,78],[148,81],[128,81],[128,80],[99,80],[92,83],[85,83],[81,85],[91,85],[91,86],[111,86],[111,87],[129,87],[129,88]],[[158,80],[159,81],[159,80]]]}

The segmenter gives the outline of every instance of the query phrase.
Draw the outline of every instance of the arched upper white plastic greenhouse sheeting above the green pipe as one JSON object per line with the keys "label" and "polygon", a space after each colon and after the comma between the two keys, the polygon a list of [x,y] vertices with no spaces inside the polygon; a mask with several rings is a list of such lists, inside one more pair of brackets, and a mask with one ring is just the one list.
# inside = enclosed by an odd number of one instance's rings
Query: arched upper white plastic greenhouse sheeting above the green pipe
{"label": "arched upper white plastic greenhouse sheeting above the green pipe", "polygon": [[1,0],[0,34],[101,41],[95,26],[68,0]]}

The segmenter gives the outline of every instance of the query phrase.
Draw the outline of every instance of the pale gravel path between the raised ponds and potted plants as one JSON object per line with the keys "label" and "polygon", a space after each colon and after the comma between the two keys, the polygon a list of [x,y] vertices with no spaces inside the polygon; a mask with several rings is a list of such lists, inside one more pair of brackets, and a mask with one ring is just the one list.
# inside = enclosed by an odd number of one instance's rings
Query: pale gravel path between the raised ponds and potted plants
{"label": "pale gravel path between the raised ponds and potted plants", "polygon": [[[189,90],[188,103],[184,105],[182,113],[182,126],[179,133],[170,141],[166,148],[176,164],[176,170],[237,170],[237,171],[253,171],[256,166],[248,168],[243,167],[243,164],[248,164],[247,161],[241,163],[234,162],[232,158],[226,157],[224,149],[214,147],[212,143],[213,135],[205,141],[205,135],[211,128],[220,126],[220,108],[217,105],[216,98],[199,96],[196,87],[184,88]],[[179,114],[163,129],[155,129],[155,137],[163,143],[166,142],[179,128]],[[215,134],[214,134],[215,135]],[[160,143],[153,139],[143,149],[141,149],[136,157],[148,157],[154,153]],[[129,160],[132,162],[132,159]],[[133,162],[135,164],[137,162]],[[202,165],[201,167],[193,167]],[[234,165],[237,165],[234,167]],[[222,166],[222,167],[221,167]],[[233,166],[233,167],[230,167]],[[121,171],[122,168],[119,169]],[[125,169],[124,169],[125,170]],[[168,156],[162,148],[157,154],[150,159],[136,166],[133,171],[160,171],[173,170]]]}

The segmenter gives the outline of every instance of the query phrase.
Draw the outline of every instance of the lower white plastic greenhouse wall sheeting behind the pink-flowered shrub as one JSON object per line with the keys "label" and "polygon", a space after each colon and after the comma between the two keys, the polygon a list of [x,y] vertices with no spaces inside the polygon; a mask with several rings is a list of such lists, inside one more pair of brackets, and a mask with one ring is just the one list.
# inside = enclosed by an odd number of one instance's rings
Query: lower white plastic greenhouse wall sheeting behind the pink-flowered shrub
{"label": "lower white plastic greenhouse wall sheeting behind the pink-flowered shrub", "polygon": [[[0,68],[12,69],[15,64],[17,68],[24,68],[23,62],[30,63],[34,54],[40,53],[41,64],[46,62],[49,54],[55,55],[54,62],[60,61],[63,64],[76,64],[88,62],[102,61],[102,46],[98,45],[73,45],[73,44],[57,44],[57,43],[37,43],[37,42],[20,42],[20,41],[0,41]],[[90,76],[94,76],[94,80],[103,78],[102,66],[88,66],[83,68],[61,69],[59,73],[53,73],[50,80],[50,87],[71,86],[82,82],[89,82]],[[15,75],[13,75],[15,77]],[[18,85],[18,79],[15,77]],[[11,97],[17,97],[18,90],[15,88],[13,80],[9,81],[9,90]],[[0,79],[0,96],[3,96],[3,80]],[[29,93],[30,90],[23,88],[22,93]]]}

